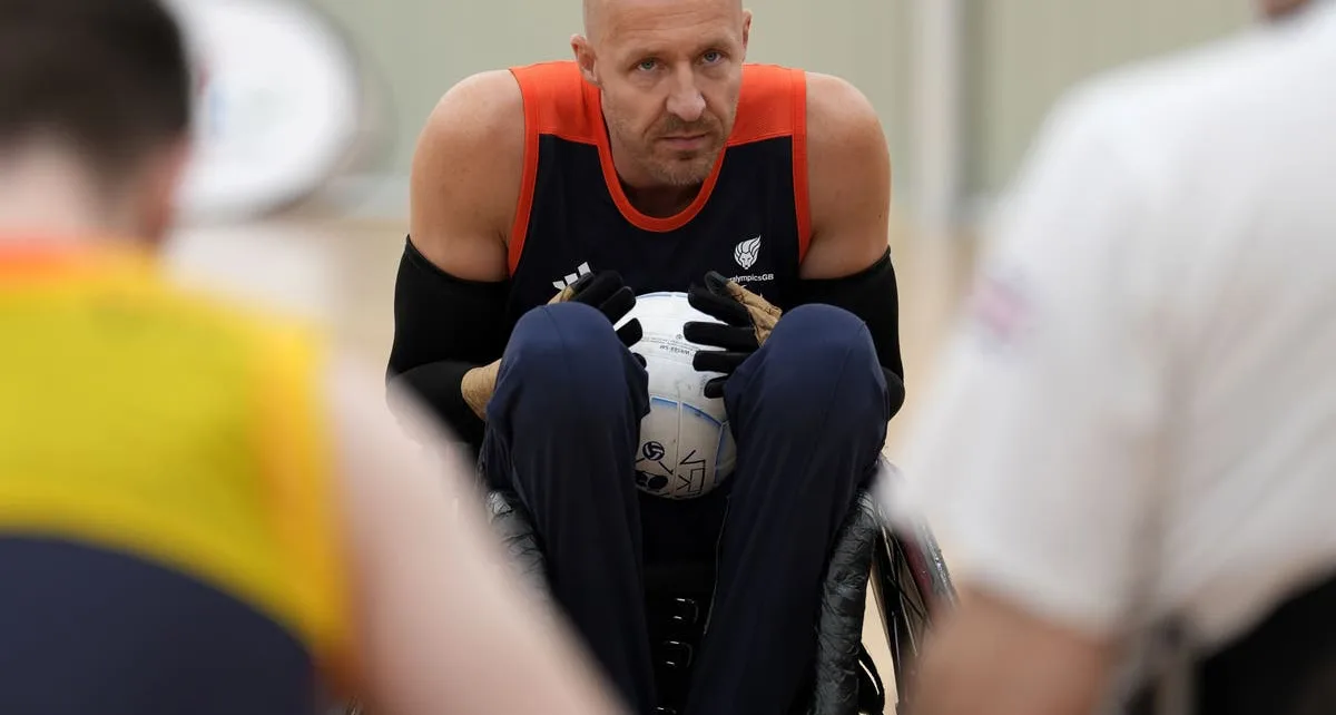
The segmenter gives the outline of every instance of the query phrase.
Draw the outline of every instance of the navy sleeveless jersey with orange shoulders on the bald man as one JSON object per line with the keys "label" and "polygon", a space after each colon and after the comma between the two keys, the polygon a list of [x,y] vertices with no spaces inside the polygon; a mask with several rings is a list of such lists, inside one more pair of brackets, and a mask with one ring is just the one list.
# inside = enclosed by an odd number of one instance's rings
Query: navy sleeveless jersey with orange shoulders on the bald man
{"label": "navy sleeveless jersey with orange shoulders on the bald man", "polygon": [[637,293],[685,291],[717,270],[786,305],[811,238],[802,69],[748,64],[725,150],[691,206],[637,211],[621,190],[599,90],[574,61],[516,67],[524,186],[509,237],[513,323],[589,271]]}

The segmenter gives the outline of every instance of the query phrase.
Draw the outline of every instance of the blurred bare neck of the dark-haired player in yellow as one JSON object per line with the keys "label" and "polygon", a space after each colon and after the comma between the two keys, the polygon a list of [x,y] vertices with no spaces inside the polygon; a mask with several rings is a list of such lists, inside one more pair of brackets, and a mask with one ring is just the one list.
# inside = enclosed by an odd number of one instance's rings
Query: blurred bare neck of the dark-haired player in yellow
{"label": "blurred bare neck of the dark-haired player in yellow", "polygon": [[0,241],[88,241],[126,233],[116,211],[77,159],[52,150],[0,156]]}

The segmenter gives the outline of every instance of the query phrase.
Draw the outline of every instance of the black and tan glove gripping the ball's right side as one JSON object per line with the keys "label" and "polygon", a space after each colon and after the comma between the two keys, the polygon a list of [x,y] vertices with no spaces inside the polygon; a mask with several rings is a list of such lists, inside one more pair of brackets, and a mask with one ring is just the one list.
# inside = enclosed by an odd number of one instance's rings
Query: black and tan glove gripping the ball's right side
{"label": "black and tan glove gripping the ball's right side", "polygon": [[697,350],[691,365],[703,373],[723,373],[705,382],[705,397],[723,397],[724,382],[743,361],[760,350],[783,311],[716,271],[705,274],[704,286],[692,286],[687,291],[687,302],[724,322],[689,321],[681,330],[683,337],[696,345],[720,347]]}

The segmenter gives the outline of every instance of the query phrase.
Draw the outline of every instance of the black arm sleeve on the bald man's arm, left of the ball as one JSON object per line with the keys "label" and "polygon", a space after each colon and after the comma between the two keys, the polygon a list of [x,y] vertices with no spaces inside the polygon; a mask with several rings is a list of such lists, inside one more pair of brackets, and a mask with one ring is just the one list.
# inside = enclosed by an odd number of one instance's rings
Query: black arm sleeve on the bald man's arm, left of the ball
{"label": "black arm sleeve on the bald man's arm, left of the ball", "polygon": [[417,394],[474,449],[482,420],[460,393],[464,373],[501,357],[509,282],[457,278],[403,242],[394,283],[394,343],[386,378]]}

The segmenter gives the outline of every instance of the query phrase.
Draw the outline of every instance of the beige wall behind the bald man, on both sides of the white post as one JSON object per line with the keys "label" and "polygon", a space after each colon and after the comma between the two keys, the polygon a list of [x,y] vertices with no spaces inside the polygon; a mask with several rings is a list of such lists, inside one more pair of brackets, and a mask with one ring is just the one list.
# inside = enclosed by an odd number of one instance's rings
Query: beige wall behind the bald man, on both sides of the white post
{"label": "beige wall behind the bald man, on both sides of the white post", "polygon": [[[381,168],[403,175],[422,120],[461,78],[569,56],[580,0],[311,0],[349,29],[387,90],[395,136]],[[923,0],[931,1],[931,0]],[[1009,176],[1058,94],[1116,64],[1221,36],[1252,0],[963,0],[966,175]],[[749,0],[751,60],[852,80],[882,114],[902,190],[912,175],[907,106],[916,0]]]}

